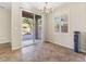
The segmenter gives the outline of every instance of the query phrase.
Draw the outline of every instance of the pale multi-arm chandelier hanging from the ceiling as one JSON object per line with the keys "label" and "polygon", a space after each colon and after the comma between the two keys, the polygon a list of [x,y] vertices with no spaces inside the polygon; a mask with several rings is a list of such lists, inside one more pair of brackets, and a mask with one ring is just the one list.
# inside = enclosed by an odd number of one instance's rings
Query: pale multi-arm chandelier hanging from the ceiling
{"label": "pale multi-arm chandelier hanging from the ceiling", "polygon": [[52,12],[52,7],[49,4],[49,2],[45,2],[44,7],[41,7],[39,11],[41,13],[50,13]]}

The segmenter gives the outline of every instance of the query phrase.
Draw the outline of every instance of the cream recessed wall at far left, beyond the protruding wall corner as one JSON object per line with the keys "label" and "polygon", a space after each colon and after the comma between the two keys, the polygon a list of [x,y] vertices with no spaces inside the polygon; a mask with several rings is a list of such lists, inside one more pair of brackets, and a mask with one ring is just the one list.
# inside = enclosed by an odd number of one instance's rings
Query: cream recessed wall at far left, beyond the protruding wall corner
{"label": "cream recessed wall at far left, beyond the protruding wall corner", "polygon": [[10,11],[0,9],[0,43],[11,42],[11,15]]}

